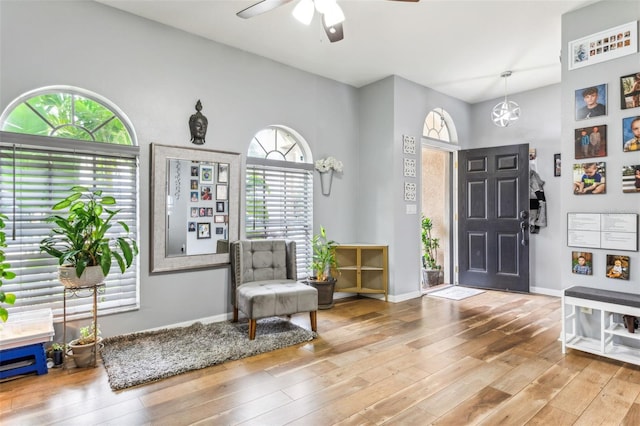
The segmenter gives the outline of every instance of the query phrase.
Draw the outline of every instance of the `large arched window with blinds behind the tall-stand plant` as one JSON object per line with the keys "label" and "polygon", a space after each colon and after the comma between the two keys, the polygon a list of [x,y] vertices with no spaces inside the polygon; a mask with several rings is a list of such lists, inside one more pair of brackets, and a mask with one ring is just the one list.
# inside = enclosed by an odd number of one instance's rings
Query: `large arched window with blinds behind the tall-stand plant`
{"label": "large arched window with blinds behind the tall-stand plant", "polygon": [[[51,207],[74,185],[114,196],[120,218],[138,235],[138,156],[126,116],[88,91],[52,86],[14,100],[0,116],[0,213],[8,217],[7,263],[16,278],[3,290],[15,293],[9,311],[52,308],[62,315],[57,259],[39,250],[52,224]],[[99,297],[101,314],[136,309],[138,266],[112,268]],[[6,288],[5,288],[6,286]],[[67,300],[69,318],[91,313],[92,298]]]}

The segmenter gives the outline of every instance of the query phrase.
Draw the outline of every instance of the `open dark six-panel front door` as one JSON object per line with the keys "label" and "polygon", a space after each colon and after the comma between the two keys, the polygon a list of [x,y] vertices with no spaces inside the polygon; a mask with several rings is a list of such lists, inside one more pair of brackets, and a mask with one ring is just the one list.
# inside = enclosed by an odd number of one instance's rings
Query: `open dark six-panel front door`
{"label": "open dark six-panel front door", "polygon": [[460,151],[459,282],[529,292],[529,145]]}

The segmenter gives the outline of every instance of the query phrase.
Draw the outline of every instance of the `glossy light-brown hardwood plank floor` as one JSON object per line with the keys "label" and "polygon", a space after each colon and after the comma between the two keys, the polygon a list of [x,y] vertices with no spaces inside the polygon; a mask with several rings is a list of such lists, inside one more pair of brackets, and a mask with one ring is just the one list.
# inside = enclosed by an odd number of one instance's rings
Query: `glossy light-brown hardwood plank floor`
{"label": "glossy light-brown hardwood plank floor", "polygon": [[101,365],[1,383],[0,423],[640,424],[640,368],[565,356],[560,328],[548,296],[348,299],[319,312],[310,343],[129,390]]}

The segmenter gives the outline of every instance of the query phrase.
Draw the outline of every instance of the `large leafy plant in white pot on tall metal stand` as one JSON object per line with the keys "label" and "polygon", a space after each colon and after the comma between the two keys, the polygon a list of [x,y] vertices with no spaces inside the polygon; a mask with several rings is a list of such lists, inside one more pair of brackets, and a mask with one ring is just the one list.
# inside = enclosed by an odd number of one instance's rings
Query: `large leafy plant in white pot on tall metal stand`
{"label": "large leafy plant in white pot on tall metal stand", "polygon": [[68,213],[48,218],[57,227],[40,242],[40,250],[59,260],[60,281],[65,286],[102,282],[113,259],[122,273],[132,265],[138,255],[138,244],[129,236],[127,224],[117,221],[124,232],[107,235],[120,212],[109,209],[115,204],[115,198],[103,196],[101,190],[74,186],[67,197],[53,206],[54,211],[68,209]]}

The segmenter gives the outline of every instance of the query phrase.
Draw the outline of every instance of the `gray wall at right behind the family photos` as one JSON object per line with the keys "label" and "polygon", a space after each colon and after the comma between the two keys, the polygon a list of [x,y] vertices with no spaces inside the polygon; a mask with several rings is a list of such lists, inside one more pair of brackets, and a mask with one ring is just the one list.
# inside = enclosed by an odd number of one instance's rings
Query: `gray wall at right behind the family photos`
{"label": "gray wall at right behind the family photos", "polygon": [[[562,19],[562,60],[568,63],[567,44],[593,33],[626,24],[640,19],[640,2],[638,1],[604,1],[585,7]],[[640,194],[622,192],[622,166],[640,164],[640,152],[622,151],[622,119],[640,116],[640,108],[620,109],[620,77],[640,71],[640,53],[628,55],[584,68],[568,71],[566,65],[562,69],[562,158],[563,175],[561,179],[561,196],[564,202],[561,207],[562,229],[566,229],[567,213],[640,213]],[[575,121],[575,91],[585,87],[607,84],[607,115],[588,120]],[[574,158],[574,130],[587,125],[606,124],[608,126],[607,156],[599,158],[606,162],[606,194],[574,195],[569,166],[582,161]],[[566,171],[566,173],[565,173]],[[562,234],[562,263],[560,279],[562,288],[572,285],[605,288],[609,290],[640,292],[640,255],[637,251],[616,251],[601,249],[580,249],[567,247],[567,235]],[[569,268],[572,251],[589,251],[593,253],[593,275],[574,275]],[[605,277],[606,255],[621,254],[631,258],[630,279],[618,280]]]}

